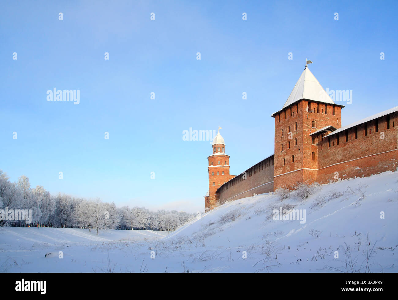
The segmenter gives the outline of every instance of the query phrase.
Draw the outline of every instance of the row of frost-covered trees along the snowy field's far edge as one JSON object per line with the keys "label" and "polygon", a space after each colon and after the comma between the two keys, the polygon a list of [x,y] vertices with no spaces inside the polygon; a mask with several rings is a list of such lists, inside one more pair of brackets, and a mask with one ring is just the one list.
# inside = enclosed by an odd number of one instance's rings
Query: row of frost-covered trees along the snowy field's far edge
{"label": "row of frost-covered trees along the snowy field's far edge", "polygon": [[[149,211],[145,207],[116,207],[100,199],[84,199],[66,194],[50,195],[43,186],[31,188],[29,178],[22,175],[10,182],[0,170],[0,210],[31,209],[32,220],[6,220],[0,226],[44,226],[92,229],[143,229],[173,231],[195,216],[181,211]],[[4,211],[0,212],[4,214]]]}

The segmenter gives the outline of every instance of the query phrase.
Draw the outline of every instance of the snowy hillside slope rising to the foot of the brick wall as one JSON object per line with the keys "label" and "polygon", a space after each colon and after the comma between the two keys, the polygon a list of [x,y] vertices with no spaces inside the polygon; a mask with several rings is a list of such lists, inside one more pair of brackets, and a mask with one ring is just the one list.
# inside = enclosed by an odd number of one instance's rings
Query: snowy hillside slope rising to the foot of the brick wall
{"label": "snowy hillside slope rising to the foot of the brick wall", "polygon": [[[204,244],[217,249],[214,256],[220,249],[246,251],[253,263],[265,259],[256,265],[263,271],[346,271],[345,252],[357,258],[352,268],[364,271],[366,263],[361,264],[368,252],[372,272],[396,272],[397,200],[398,173],[384,172],[322,185],[305,200],[294,193],[283,202],[271,193],[239,199],[202,215],[163,240]],[[273,209],[292,206],[305,210],[305,223],[273,220]],[[382,212],[384,219],[380,218]],[[313,230],[314,236],[310,234]],[[335,251],[339,258],[334,258]]]}

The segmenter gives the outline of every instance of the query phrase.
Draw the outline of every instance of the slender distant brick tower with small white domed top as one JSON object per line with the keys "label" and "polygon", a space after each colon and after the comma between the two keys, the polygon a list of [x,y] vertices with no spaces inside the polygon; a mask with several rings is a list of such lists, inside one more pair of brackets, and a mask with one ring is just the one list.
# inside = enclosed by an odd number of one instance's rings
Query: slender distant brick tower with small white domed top
{"label": "slender distant brick tower with small white domed top", "polygon": [[216,194],[217,189],[228,180],[230,180],[229,174],[229,155],[225,154],[225,143],[224,139],[219,132],[213,140],[213,154],[207,157],[208,172],[209,172],[209,191],[205,195],[205,211],[209,211],[217,206],[219,201],[219,195]]}

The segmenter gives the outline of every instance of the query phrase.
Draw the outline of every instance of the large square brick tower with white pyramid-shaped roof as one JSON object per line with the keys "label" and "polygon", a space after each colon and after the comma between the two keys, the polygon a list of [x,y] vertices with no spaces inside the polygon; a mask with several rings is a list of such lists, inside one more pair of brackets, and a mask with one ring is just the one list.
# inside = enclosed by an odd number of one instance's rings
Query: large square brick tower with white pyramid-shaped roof
{"label": "large square brick tower with white pyramid-shaped roof", "polygon": [[[274,190],[287,182],[316,180],[318,141],[341,128],[336,105],[306,65],[275,118]],[[319,139],[319,140],[318,140]]]}

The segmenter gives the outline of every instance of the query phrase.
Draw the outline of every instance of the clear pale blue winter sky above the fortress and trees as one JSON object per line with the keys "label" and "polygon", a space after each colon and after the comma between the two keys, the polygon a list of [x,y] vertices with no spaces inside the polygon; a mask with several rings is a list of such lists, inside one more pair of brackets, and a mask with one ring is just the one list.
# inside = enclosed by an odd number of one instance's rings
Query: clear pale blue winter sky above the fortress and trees
{"label": "clear pale blue winter sky above the fortress and trees", "polygon": [[[398,105],[397,8],[397,1],[2,2],[0,169],[51,194],[204,211],[211,143],[185,141],[183,131],[222,127],[230,173],[240,174],[273,154],[270,115],[306,59],[324,89],[351,91],[342,126]],[[47,101],[54,88],[79,91],[79,104]]]}

